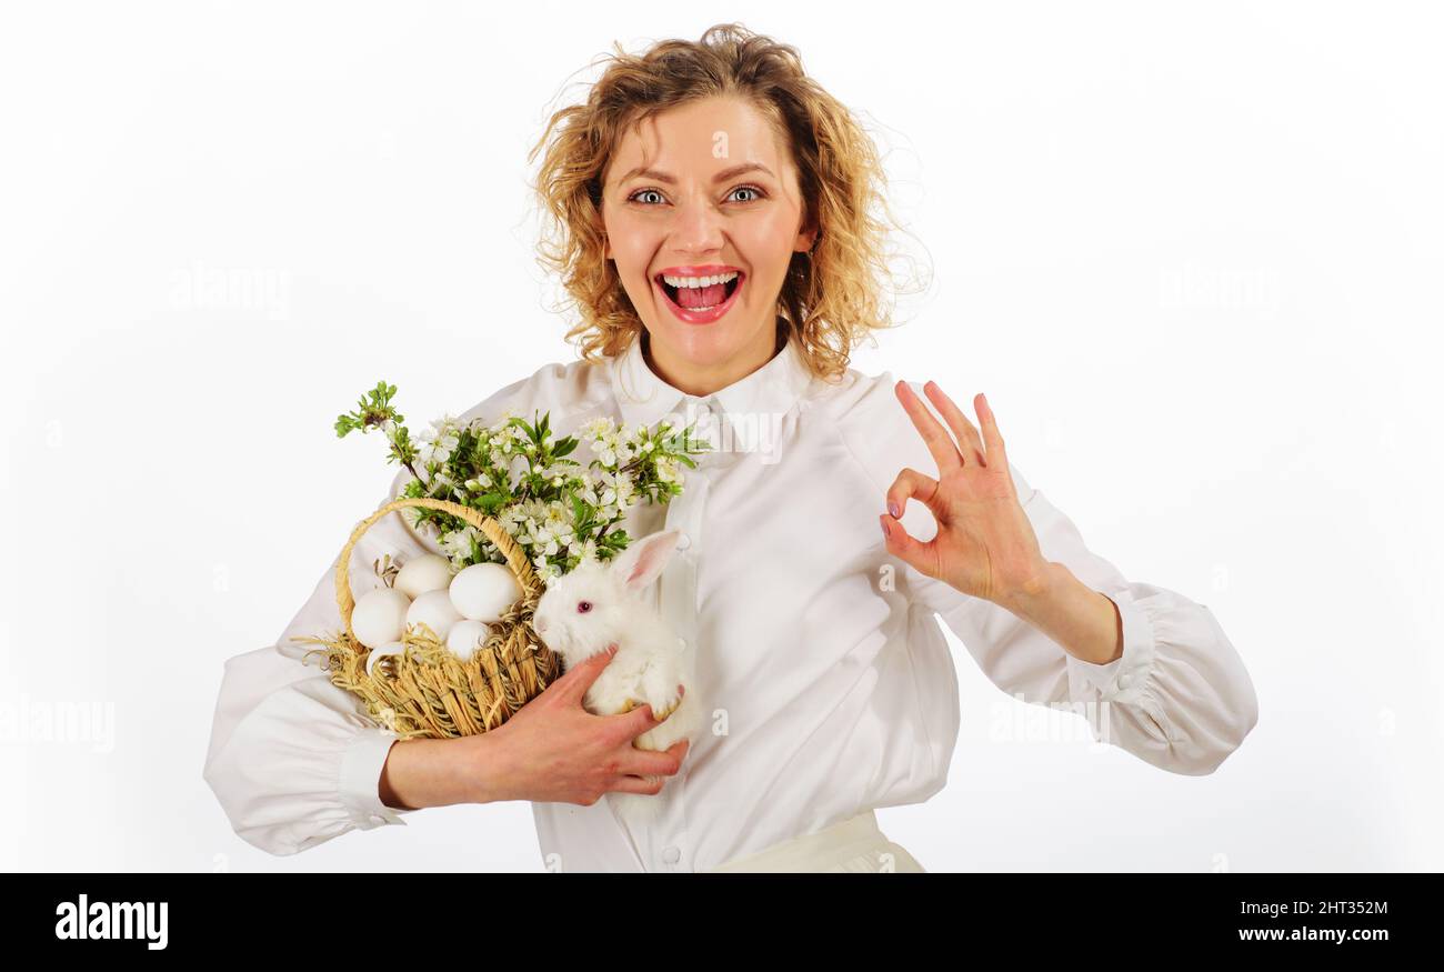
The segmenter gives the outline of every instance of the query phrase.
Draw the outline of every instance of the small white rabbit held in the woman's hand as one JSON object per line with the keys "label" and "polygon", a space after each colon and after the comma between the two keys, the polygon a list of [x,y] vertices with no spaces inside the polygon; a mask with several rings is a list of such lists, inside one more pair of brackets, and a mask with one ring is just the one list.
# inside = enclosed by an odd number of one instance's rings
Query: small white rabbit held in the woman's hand
{"label": "small white rabbit held in the woman's hand", "polygon": [[[677,549],[677,530],[632,540],[608,563],[582,560],[552,582],[537,602],[531,627],[570,669],[608,646],[617,654],[586,690],[582,706],[593,715],[615,715],[651,705],[666,715],[661,725],[638,735],[638,750],[664,751],[680,739],[696,742],[702,726],[695,698],[693,650],[647,602],[644,592]],[[677,686],[686,687],[677,702]],[[654,780],[656,777],[645,777]],[[663,777],[666,780],[666,777]],[[654,817],[661,794],[608,791],[617,812],[637,823]]]}

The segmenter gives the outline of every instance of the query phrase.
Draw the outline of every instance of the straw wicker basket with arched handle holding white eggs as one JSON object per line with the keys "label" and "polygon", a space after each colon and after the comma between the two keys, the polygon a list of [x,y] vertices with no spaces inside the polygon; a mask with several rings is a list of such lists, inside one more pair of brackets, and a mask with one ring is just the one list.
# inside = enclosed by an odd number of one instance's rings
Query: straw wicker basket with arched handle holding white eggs
{"label": "straw wicker basket with arched handle holding white eggs", "polygon": [[[491,622],[490,637],[469,661],[452,654],[425,624],[413,625],[401,640],[406,651],[377,660],[367,674],[370,648],[351,628],[351,550],[377,520],[406,507],[442,510],[465,520],[487,536],[507,557],[523,596]],[[336,604],[345,631],[335,637],[295,637],[323,647],[331,682],[360,696],[377,725],[403,739],[477,735],[505,722],[523,705],[542,695],[562,674],[562,660],[531,630],[531,615],[543,594],[526,552],[494,518],[446,500],[410,498],[388,503],[357,524],[336,560]]]}

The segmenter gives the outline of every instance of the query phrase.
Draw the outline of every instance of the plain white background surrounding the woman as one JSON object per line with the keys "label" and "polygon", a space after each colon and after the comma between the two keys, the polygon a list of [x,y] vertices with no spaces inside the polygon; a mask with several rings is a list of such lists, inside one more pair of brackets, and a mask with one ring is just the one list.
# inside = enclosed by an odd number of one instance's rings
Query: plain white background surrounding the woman
{"label": "plain white background surrounding the woman", "polygon": [[[930,871],[1444,867],[1427,7],[682,7],[6,6],[0,867],[542,869],[526,803],[244,843],[201,778],[221,667],[383,498],[384,443],[332,430],[364,389],[420,428],[573,357],[527,149],[614,40],[723,20],[861,114],[926,247],[855,367],[986,391],[1030,481],[1207,604],[1259,695],[1217,773],[1173,776],[953,640],[950,783],[888,836]],[[62,706],[113,725],[30,729]]]}

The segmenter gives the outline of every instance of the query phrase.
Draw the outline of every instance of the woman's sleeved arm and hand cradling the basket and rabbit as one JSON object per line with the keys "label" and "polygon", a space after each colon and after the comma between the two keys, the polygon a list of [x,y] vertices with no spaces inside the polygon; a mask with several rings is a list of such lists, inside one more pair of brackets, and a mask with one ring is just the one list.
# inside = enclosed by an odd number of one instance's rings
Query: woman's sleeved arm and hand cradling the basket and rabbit
{"label": "woman's sleeved arm and hand cradling the basket and rabbit", "polygon": [[[383,553],[404,559],[426,550],[410,527],[388,516],[361,536],[355,556],[370,565]],[[300,663],[313,646],[292,635],[339,627],[332,568],[277,644],[225,666],[204,776],[237,835],[270,854],[297,854],[348,830],[404,823],[401,815],[430,806],[592,804],[608,791],[656,794],[686,758],[684,741],[664,752],[632,745],[660,725],[651,706],[611,716],[582,706],[612,657],[606,651],[569,667],[490,732],[399,741],[315,663]]]}

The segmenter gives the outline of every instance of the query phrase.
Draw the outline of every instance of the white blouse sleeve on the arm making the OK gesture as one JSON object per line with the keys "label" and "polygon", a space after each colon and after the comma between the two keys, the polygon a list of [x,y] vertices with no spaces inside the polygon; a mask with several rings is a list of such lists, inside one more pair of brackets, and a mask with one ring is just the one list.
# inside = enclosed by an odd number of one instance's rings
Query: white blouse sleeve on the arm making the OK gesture
{"label": "white blouse sleeve on the arm making the OK gesture", "polygon": [[[1087,549],[1073,521],[1009,464],[1018,498],[1047,560],[1108,595],[1123,622],[1123,653],[1108,664],[1073,657],[1050,637],[989,601],[910,570],[915,599],[939,612],[1004,692],[1035,705],[1067,705],[1093,735],[1170,773],[1213,773],[1258,722],[1258,698],[1239,653],[1213,612],[1188,598],[1128,581]],[[908,513],[920,504],[910,504]],[[936,533],[904,523],[918,539]]]}

